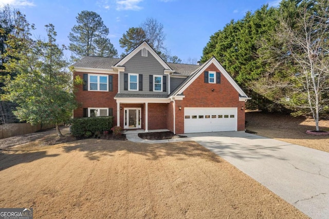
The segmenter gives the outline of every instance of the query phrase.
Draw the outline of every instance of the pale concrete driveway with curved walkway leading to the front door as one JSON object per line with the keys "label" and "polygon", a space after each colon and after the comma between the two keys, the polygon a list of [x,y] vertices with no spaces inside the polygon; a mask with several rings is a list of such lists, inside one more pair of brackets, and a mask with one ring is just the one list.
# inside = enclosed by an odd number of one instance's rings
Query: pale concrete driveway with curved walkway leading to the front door
{"label": "pale concrete driveway with curved walkway leading to the front door", "polygon": [[312,218],[329,218],[329,153],[245,132],[185,134],[174,140],[127,139],[140,143],[195,141],[254,178]]}

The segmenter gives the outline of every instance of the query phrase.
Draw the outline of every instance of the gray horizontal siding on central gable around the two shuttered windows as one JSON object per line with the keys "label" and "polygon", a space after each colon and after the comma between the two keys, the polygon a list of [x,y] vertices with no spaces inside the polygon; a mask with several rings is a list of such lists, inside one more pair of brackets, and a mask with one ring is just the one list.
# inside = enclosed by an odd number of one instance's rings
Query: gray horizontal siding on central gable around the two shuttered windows
{"label": "gray horizontal siding on central gable around the two shuttered windows", "polygon": [[[155,59],[155,57],[148,51],[148,57],[142,57],[141,51],[134,55],[129,61],[124,64],[125,70],[120,73],[120,93],[130,94],[168,94],[168,78],[167,75],[167,92],[153,92],[149,91],[149,75],[165,75],[163,66]],[[123,90],[123,73],[134,73],[143,75],[143,90],[129,91]]]}

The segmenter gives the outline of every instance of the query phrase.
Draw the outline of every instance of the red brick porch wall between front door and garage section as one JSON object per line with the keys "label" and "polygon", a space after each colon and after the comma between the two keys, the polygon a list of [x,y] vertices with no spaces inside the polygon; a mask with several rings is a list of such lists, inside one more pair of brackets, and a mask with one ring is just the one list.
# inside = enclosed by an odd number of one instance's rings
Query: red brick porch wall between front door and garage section
{"label": "red brick porch wall between front door and garage section", "polygon": [[149,130],[167,129],[169,104],[149,104]]}

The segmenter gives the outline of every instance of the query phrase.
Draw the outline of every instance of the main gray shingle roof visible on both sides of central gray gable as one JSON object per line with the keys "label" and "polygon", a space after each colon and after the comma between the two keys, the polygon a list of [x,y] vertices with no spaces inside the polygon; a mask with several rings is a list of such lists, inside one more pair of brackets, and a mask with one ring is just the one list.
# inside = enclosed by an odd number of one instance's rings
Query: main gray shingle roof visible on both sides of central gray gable
{"label": "main gray shingle roof visible on both sides of central gray gable", "polygon": [[[96,68],[96,69],[112,69],[112,66],[117,64],[121,58],[106,58],[99,56],[85,56],[72,66],[76,68]],[[176,74],[190,75],[198,67],[198,65],[167,63],[170,68],[175,70]]]}

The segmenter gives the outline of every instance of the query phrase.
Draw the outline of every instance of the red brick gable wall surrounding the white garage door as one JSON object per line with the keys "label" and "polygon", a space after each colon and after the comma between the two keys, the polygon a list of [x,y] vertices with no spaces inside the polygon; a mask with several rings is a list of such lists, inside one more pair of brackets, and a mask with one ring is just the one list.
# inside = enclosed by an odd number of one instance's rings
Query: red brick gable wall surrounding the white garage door
{"label": "red brick gable wall surrounding the white garage door", "polygon": [[[214,64],[211,64],[205,71],[219,72]],[[241,107],[245,103],[239,101],[239,93],[221,75],[221,84],[208,84],[204,82],[204,72],[184,91],[185,98],[176,101],[176,108],[181,106],[181,110],[176,110],[176,133],[184,133],[184,107],[237,107],[237,130],[245,128],[245,115]],[[214,91],[212,91],[214,89]]]}

